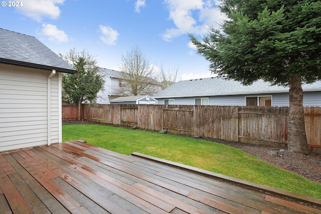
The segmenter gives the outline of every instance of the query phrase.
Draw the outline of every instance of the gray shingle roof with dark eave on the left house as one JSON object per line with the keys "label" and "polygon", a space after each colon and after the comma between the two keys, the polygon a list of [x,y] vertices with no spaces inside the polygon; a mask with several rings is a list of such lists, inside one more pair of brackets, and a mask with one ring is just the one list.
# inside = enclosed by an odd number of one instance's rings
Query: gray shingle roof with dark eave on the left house
{"label": "gray shingle roof with dark eave on the left house", "polygon": [[77,72],[35,37],[2,28],[0,28],[0,63],[65,73]]}

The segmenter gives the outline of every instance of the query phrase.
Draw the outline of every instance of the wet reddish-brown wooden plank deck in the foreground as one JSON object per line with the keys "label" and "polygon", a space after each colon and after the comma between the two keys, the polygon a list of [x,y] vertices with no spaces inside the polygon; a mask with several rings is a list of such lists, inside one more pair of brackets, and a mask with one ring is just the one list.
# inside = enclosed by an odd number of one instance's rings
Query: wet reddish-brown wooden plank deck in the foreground
{"label": "wet reddish-brown wooden plank deck in the foreground", "polygon": [[321,213],[321,200],[71,141],[0,154],[0,213]]}

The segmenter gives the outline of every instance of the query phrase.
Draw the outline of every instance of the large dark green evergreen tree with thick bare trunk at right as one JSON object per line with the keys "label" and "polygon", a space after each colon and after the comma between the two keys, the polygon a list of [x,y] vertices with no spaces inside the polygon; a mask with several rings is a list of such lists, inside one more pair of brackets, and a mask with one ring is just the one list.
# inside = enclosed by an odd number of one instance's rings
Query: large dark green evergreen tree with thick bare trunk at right
{"label": "large dark green evergreen tree with thick bare trunk at right", "polygon": [[312,0],[225,0],[227,16],[210,28],[198,54],[218,76],[249,85],[258,79],[289,86],[288,151],[309,154],[302,83],[321,79],[321,2]]}

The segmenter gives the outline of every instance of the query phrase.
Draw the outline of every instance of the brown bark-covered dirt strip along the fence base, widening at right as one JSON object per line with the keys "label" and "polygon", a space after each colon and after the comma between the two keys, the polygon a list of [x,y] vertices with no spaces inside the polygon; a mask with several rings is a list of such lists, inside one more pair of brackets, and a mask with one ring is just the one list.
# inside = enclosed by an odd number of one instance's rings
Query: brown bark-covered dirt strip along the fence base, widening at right
{"label": "brown bark-covered dirt strip along the fence base, widening at right", "polygon": [[[63,124],[99,124],[107,125],[102,123],[96,123],[92,121],[63,121]],[[119,126],[120,127],[120,126]],[[129,128],[131,127],[122,127]],[[146,130],[150,131],[150,130]],[[156,131],[150,131],[156,132]],[[195,138],[189,135],[180,135],[184,137]],[[311,181],[315,181],[321,184],[321,154],[312,152],[311,155],[303,155],[299,153],[289,153],[285,149],[284,155],[279,152],[282,148],[272,148],[264,145],[239,143],[233,141],[225,141],[212,138],[200,138],[201,140],[207,140],[217,143],[222,143],[228,146],[238,148],[248,154],[254,155],[278,168],[293,172]],[[271,149],[277,152],[278,156],[270,156]]]}

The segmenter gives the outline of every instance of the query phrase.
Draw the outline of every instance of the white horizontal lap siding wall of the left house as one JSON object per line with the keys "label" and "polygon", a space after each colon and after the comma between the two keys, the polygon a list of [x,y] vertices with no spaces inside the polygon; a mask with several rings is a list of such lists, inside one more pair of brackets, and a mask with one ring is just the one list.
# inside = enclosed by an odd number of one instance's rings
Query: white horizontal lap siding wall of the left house
{"label": "white horizontal lap siding wall of the left house", "polygon": [[[59,78],[50,81],[51,123],[48,121],[47,70],[0,64],[0,151],[59,142]],[[60,119],[61,120],[61,119]]]}

